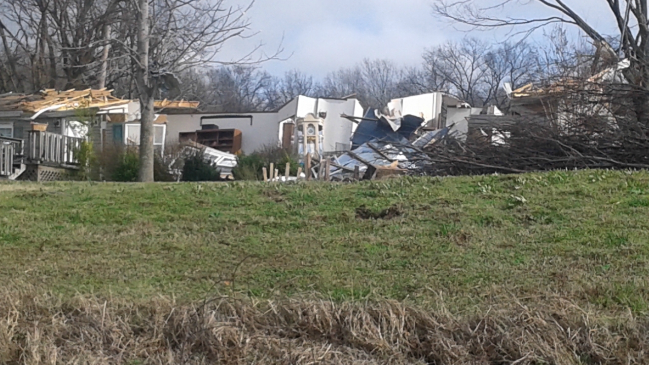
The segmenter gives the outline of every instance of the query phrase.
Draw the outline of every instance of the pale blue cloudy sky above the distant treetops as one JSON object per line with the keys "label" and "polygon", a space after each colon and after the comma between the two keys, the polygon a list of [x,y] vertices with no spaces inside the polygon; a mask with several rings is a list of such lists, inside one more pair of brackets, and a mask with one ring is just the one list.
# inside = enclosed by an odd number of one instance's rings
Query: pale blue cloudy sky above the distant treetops
{"label": "pale blue cloudy sky above the distant treetops", "polygon": [[[246,0],[228,0],[232,5]],[[256,0],[246,16],[251,22],[249,40],[233,40],[221,57],[230,59],[263,44],[273,53],[281,44],[283,58],[263,65],[282,75],[290,69],[321,79],[327,73],[347,68],[363,58],[385,58],[400,66],[417,66],[422,53],[448,40],[476,36],[502,40],[502,31],[469,34],[432,12],[434,0]],[[495,0],[476,0],[487,3]],[[511,16],[552,14],[536,0],[504,11]],[[610,10],[604,0],[564,0],[596,27],[609,23]],[[500,13],[499,13],[500,14]]]}

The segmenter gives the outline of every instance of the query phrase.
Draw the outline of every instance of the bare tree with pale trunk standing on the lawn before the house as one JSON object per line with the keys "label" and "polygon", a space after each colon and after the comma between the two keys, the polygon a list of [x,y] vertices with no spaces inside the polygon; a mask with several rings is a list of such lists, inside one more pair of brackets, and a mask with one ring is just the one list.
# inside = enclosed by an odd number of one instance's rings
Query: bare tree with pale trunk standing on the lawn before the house
{"label": "bare tree with pale trunk standing on the lawn before the house", "polygon": [[[177,76],[191,68],[217,62],[215,57],[228,41],[244,38],[249,23],[245,13],[252,6],[228,7],[226,0],[130,0],[130,37],[115,38],[129,57],[130,71],[140,99],[140,181],[153,181],[154,99],[162,90],[179,88]],[[134,34],[133,34],[134,33]],[[252,53],[223,63],[261,62]],[[274,56],[273,56],[274,57]],[[272,57],[271,57],[272,58]],[[267,59],[267,57],[265,57]]]}

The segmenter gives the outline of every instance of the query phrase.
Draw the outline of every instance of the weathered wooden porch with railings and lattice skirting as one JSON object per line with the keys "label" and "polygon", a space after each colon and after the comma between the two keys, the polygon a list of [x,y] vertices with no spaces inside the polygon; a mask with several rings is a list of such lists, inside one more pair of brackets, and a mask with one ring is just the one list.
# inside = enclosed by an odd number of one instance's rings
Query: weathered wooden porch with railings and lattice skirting
{"label": "weathered wooden porch with railings and lattice skirting", "polygon": [[84,138],[45,131],[27,131],[27,139],[0,137],[0,179],[56,181],[79,170]]}

